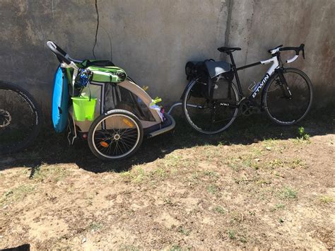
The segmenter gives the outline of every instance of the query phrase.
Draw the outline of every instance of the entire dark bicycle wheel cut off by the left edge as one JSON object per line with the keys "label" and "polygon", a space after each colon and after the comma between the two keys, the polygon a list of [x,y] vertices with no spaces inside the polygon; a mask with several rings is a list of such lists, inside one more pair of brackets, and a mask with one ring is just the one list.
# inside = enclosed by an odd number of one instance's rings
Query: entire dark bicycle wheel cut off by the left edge
{"label": "entire dark bicycle wheel cut off by the left edge", "polygon": [[0,154],[26,148],[40,132],[41,112],[23,88],[0,81]]}

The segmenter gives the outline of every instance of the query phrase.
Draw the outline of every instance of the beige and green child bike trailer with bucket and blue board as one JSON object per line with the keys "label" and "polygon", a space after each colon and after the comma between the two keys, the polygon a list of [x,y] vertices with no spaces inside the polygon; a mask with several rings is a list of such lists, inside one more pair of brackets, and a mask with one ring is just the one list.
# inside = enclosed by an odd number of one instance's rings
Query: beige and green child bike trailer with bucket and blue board
{"label": "beige and green child bike trailer with bucket and blue board", "polygon": [[54,77],[52,118],[56,132],[68,129],[70,144],[87,139],[95,156],[120,160],[134,154],[143,137],[175,127],[175,120],[156,105],[126,72],[107,60],[76,60],[47,42],[60,62]]}

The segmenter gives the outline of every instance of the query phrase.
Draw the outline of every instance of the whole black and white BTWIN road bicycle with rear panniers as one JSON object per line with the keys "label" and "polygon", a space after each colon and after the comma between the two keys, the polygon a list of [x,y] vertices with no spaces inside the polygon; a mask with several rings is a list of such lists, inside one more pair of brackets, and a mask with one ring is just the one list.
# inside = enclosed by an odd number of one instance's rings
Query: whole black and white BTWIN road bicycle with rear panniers
{"label": "whole black and white BTWIN road bicycle with rear panniers", "polygon": [[[185,71],[189,83],[182,94],[182,107],[187,122],[197,131],[204,134],[216,134],[227,129],[237,117],[250,115],[261,109],[265,110],[273,122],[291,125],[303,119],[310,110],[313,99],[310,78],[301,70],[285,68],[281,52],[293,51],[295,56],[286,63],[298,59],[300,52],[305,59],[305,45],[283,47],[279,45],[269,49],[271,59],[236,67],[232,52],[239,47],[220,47],[219,52],[230,56],[228,62],[215,62],[208,59],[204,62],[188,62]],[[264,78],[249,86],[250,95],[242,92],[237,71],[259,64],[271,64]],[[233,82],[235,77],[235,82]],[[262,90],[262,91],[261,91]],[[255,98],[261,91],[261,103]]]}

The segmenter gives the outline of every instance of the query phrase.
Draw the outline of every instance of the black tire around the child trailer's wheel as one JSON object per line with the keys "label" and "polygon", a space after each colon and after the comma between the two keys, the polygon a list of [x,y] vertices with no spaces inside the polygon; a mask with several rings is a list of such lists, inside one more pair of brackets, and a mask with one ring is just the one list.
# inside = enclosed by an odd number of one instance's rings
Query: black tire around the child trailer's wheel
{"label": "black tire around the child trailer's wheel", "polygon": [[[136,142],[134,144],[134,146],[132,146],[130,148],[130,150],[127,153],[123,153],[122,155],[119,156],[112,156],[112,155],[107,155],[106,153],[102,152],[104,149],[100,147],[100,149],[97,146],[97,139],[95,139],[95,134],[97,132],[97,129],[100,125],[101,122],[105,122],[105,120],[107,120],[110,117],[124,117],[125,119],[127,119],[127,123],[131,123],[131,127],[133,126],[132,124],[134,123],[134,125],[136,126],[137,129],[137,138],[136,138]],[[127,124],[126,123],[126,124]],[[115,129],[110,129],[110,130],[114,130],[112,133],[114,136],[114,132]],[[120,129],[119,129],[120,130]],[[107,129],[105,129],[105,131],[107,131]],[[109,145],[113,144],[113,139],[111,136],[111,132],[107,132],[110,135],[110,143],[108,143],[107,146],[103,146],[103,147],[108,147]],[[117,132],[117,134],[119,134],[119,132]],[[122,140],[122,135],[123,134],[119,134],[119,139],[117,139],[116,141]],[[104,135],[105,136],[105,135]],[[99,143],[101,143],[102,141],[106,141],[106,139],[100,139]],[[115,137],[114,137],[114,142],[115,141]],[[88,146],[90,147],[90,151],[92,151],[92,153],[100,158],[101,160],[122,160],[124,158],[128,158],[129,156],[132,156],[134,153],[136,153],[136,151],[139,149],[139,147],[141,146],[143,141],[143,127],[142,124],[140,122],[140,120],[131,112],[128,112],[127,110],[110,110],[109,112],[106,112],[105,114],[100,115],[97,119],[94,120],[94,122],[91,124],[90,129],[88,131]],[[129,138],[127,141],[127,144],[129,144]],[[121,146],[121,143],[120,143]],[[117,146],[115,146],[114,148],[117,148]],[[120,147],[121,148],[121,147]],[[117,151],[115,152],[117,153]],[[114,151],[113,153],[114,154]]]}

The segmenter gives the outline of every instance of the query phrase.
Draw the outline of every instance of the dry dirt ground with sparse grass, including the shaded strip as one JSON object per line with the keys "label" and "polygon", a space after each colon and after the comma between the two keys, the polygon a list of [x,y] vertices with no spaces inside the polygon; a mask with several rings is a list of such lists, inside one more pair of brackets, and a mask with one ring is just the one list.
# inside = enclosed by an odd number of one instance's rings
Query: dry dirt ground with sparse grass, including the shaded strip
{"label": "dry dirt ground with sparse grass, including the shaded strip", "polygon": [[178,120],[114,163],[53,135],[0,160],[0,249],[335,247],[334,110],[216,136]]}

